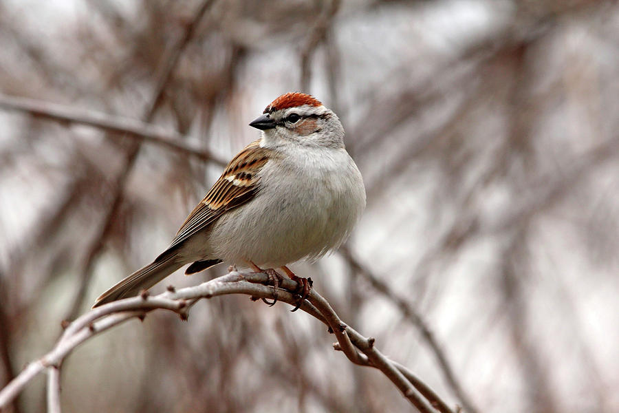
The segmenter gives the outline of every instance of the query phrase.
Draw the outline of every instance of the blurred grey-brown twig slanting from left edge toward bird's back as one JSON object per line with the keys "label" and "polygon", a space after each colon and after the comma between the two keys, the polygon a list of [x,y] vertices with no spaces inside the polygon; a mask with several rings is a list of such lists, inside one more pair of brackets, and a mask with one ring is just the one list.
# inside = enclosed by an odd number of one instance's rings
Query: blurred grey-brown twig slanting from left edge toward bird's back
{"label": "blurred grey-brown twig slanting from left edge toward bird's back", "polygon": [[0,94],[0,107],[18,112],[25,112],[32,116],[38,116],[63,124],[87,125],[111,132],[108,138],[119,138],[129,136],[140,138],[144,142],[162,145],[188,156],[195,156],[202,160],[215,162],[218,165],[226,165],[221,158],[213,155],[208,149],[199,149],[187,145],[184,136],[176,131],[166,131],[164,128],[151,123],[142,122],[137,119],[113,116],[102,112],[95,112],[58,103],[44,102],[30,98],[18,96],[8,96]]}

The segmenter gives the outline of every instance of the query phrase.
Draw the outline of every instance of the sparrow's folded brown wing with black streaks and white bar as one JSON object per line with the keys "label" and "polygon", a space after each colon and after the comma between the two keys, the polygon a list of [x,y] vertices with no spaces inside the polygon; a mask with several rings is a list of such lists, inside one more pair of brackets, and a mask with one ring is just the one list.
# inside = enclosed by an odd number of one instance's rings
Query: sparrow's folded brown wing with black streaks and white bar
{"label": "sparrow's folded brown wing with black streaks and white bar", "polygon": [[222,213],[252,200],[259,190],[258,172],[273,156],[272,149],[260,147],[260,140],[251,142],[239,152],[191,211],[168,250],[208,227]]}

